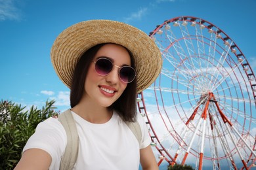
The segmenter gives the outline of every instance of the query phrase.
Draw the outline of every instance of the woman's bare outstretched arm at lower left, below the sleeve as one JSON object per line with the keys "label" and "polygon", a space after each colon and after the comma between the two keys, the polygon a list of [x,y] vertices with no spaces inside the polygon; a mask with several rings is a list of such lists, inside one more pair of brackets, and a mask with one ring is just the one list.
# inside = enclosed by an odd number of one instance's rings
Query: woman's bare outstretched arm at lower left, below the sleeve
{"label": "woman's bare outstretched arm at lower left, below the sleeve", "polygon": [[50,154],[44,150],[31,148],[22,154],[22,158],[14,168],[14,170],[47,170],[51,165],[52,158]]}

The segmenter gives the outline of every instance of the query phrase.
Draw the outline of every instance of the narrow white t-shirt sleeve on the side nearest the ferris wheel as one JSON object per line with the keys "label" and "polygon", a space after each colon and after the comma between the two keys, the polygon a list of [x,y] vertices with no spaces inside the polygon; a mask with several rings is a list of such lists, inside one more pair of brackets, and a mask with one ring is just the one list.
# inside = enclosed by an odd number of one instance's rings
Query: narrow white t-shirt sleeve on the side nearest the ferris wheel
{"label": "narrow white t-shirt sleeve on the side nearest the ferris wheel", "polygon": [[150,139],[150,135],[148,133],[148,127],[146,126],[146,122],[145,122],[144,118],[142,118],[142,116],[140,116],[140,114],[138,114],[137,120],[140,124],[140,129],[141,129],[141,133],[142,133],[142,139],[141,139],[141,143],[140,143],[140,149],[142,149],[142,148],[146,148],[146,146],[150,145],[151,139]]}

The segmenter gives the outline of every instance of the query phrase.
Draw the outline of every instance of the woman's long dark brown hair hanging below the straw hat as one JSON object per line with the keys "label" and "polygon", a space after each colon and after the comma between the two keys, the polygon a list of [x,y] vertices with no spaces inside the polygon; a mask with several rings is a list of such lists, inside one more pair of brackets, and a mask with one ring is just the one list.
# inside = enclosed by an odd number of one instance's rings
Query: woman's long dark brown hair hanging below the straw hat
{"label": "woman's long dark brown hair hanging below the straw hat", "polygon": [[[107,44],[107,43],[105,43]],[[85,79],[89,70],[89,66],[93,61],[96,53],[105,44],[98,44],[93,46],[85,53],[77,62],[72,78],[72,85],[70,87],[70,106],[75,107],[81,100],[83,93],[85,93]],[[125,47],[124,47],[125,48]],[[127,48],[125,48],[127,49]],[[131,67],[135,68],[135,61],[133,54],[127,49],[131,58]],[[137,78],[133,82],[127,84],[127,87],[121,96],[108,109],[114,109],[124,121],[134,122],[136,116],[136,93],[137,93]]]}

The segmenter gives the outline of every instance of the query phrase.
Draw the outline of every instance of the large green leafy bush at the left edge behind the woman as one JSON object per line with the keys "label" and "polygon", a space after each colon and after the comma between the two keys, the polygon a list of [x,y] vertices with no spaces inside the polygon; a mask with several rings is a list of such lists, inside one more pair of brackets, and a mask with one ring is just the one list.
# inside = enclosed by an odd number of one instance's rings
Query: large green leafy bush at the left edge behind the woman
{"label": "large green leafy bush at the left edge behind the woman", "polygon": [[11,101],[0,102],[0,169],[14,169],[37,124],[57,114],[53,104],[47,101],[42,109],[26,110]]}

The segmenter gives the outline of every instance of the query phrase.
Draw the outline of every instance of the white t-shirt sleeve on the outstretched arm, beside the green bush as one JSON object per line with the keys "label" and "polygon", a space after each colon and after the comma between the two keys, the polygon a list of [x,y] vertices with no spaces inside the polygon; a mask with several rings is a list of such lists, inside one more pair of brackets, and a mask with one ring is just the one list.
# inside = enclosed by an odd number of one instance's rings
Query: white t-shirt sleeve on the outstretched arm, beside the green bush
{"label": "white t-shirt sleeve on the outstretched arm, beside the green bush", "polygon": [[35,133],[28,139],[23,152],[30,148],[45,150],[51,155],[50,169],[59,169],[60,159],[66,148],[66,132],[58,118],[48,118],[37,125]]}

